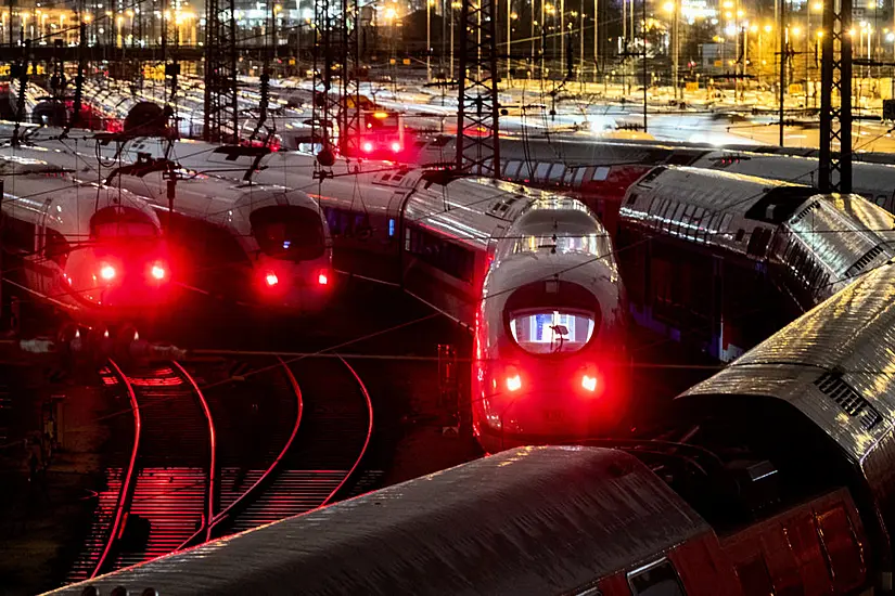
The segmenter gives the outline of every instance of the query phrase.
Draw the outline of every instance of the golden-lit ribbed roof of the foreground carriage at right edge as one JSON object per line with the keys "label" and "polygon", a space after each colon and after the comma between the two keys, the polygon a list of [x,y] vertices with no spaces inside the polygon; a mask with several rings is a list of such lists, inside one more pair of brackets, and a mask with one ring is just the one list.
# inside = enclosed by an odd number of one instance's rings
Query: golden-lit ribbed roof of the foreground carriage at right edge
{"label": "golden-lit ribbed roof of the foreground carriage at right edge", "polygon": [[[895,262],[880,265],[676,400],[760,425],[752,431],[776,437],[775,449],[808,449],[819,462],[807,465],[827,474],[847,464],[888,527],[895,523],[893,275]],[[822,446],[834,455],[821,455]]]}

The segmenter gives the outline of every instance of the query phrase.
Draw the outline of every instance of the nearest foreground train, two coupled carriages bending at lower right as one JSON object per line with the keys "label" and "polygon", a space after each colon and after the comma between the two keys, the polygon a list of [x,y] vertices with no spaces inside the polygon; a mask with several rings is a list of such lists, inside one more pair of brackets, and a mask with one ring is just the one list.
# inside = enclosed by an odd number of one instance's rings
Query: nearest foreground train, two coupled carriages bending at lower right
{"label": "nearest foreground train, two coupled carriages bending at lower right", "polygon": [[857,280],[649,435],[516,449],[57,593],[891,594],[893,282]]}

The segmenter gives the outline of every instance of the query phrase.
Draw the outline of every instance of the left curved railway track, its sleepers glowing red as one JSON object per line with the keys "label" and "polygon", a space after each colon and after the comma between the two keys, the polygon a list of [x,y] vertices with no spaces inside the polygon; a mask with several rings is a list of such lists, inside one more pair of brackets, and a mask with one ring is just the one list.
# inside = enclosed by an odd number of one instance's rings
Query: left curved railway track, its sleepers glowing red
{"label": "left curved railway track, its sleepers glowing red", "polygon": [[207,524],[214,509],[215,427],[192,376],[177,362],[125,373],[110,361],[106,372],[106,385],[129,398],[133,450],[127,467],[107,472],[110,490],[99,496],[72,581],[176,550]]}

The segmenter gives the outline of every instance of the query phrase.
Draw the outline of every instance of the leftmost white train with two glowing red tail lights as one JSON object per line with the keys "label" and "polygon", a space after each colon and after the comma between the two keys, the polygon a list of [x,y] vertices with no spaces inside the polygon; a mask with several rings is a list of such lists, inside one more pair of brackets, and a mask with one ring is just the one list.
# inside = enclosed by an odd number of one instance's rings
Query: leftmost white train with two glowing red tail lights
{"label": "leftmost white train with two glowing red tail lights", "polygon": [[170,257],[142,197],[37,159],[3,157],[0,177],[4,283],[105,331],[164,314]]}

